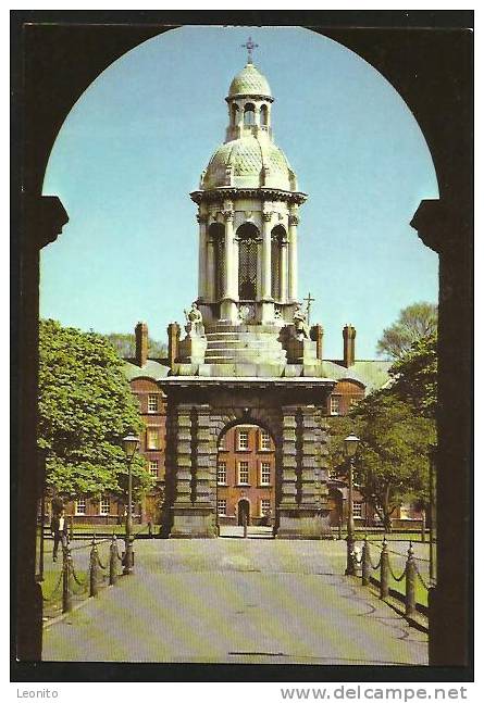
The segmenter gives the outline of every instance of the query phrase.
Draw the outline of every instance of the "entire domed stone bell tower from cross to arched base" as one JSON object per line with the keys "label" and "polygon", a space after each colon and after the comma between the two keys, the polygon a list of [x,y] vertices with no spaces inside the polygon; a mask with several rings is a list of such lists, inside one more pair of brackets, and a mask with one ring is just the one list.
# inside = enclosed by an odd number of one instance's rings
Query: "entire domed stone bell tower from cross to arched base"
{"label": "entire domed stone bell tower from cross to arched base", "polygon": [[171,371],[160,380],[165,533],[218,536],[218,447],[229,428],[256,425],[275,445],[274,536],[320,539],[328,533],[324,416],[335,381],[324,374],[322,328],[309,327],[298,300],[307,196],[274,142],[274,98],[250,48],[225,100],[225,140],[190,193],[198,296],[179,342],[178,325],[169,328]]}

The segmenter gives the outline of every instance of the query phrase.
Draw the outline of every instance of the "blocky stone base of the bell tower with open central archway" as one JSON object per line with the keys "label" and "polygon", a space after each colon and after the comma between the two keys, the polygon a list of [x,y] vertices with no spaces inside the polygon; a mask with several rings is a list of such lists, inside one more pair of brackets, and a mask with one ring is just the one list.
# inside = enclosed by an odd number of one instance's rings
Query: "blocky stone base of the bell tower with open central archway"
{"label": "blocky stone base of the bell tower with open central archway", "polygon": [[275,444],[274,532],[328,535],[326,379],[167,377],[164,535],[216,537],[218,442],[228,427],[258,425]]}

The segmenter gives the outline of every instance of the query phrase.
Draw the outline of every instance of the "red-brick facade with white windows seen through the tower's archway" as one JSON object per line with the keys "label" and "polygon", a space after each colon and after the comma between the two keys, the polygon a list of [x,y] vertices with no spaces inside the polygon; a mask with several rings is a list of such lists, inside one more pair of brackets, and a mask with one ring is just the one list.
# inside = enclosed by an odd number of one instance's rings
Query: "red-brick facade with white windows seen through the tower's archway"
{"label": "red-brick facade with white windows seen through the tower's archway", "polygon": [[[256,533],[272,533],[275,516],[275,443],[259,425],[228,426],[216,457],[219,535],[238,535],[244,519]],[[256,529],[257,528],[257,529]]]}

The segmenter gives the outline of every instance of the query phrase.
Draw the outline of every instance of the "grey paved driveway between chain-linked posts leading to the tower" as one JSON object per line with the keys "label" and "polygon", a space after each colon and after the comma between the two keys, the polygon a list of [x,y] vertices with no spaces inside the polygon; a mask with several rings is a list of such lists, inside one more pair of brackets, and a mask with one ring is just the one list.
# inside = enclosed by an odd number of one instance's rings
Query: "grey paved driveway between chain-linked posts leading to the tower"
{"label": "grey paved driveway between chain-linked posts leading to the tower", "polygon": [[144,540],[136,573],[45,631],[45,661],[426,664],[426,636],[342,574],[345,542]]}

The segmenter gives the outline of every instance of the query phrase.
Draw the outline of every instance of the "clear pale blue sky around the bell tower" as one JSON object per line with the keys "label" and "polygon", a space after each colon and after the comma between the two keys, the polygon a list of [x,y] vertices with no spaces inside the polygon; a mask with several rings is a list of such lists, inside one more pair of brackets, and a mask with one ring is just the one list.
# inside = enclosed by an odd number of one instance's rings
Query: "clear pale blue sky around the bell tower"
{"label": "clear pale blue sky around the bell tower", "polygon": [[255,63],[275,102],[274,138],[309,194],[299,227],[299,293],[324,355],[342,328],[372,359],[401,307],[437,301],[437,255],[409,226],[437,198],[423,135],[395,89],[368,63],[308,29],[183,27],[107,68],[80,97],[53,147],[44,192],[69,215],[42,250],[40,314],[101,332],[148,323],[165,338],[197,296],[198,226],[188,197],[224,140],[224,101]]}

